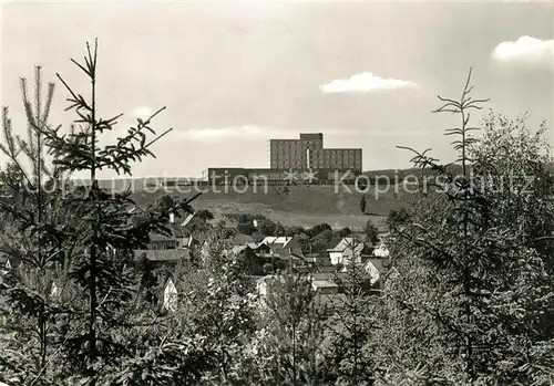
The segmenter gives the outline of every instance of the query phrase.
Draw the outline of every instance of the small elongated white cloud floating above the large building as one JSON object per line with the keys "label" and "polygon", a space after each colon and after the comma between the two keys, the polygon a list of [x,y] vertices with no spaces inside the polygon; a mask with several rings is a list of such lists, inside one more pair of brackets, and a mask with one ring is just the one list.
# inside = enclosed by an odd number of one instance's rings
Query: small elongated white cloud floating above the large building
{"label": "small elongated white cloud floating above the large building", "polygon": [[400,88],[413,88],[418,84],[411,81],[396,79],[383,79],[370,72],[356,74],[347,80],[335,80],[319,86],[324,93],[370,93],[378,91],[394,91]]}

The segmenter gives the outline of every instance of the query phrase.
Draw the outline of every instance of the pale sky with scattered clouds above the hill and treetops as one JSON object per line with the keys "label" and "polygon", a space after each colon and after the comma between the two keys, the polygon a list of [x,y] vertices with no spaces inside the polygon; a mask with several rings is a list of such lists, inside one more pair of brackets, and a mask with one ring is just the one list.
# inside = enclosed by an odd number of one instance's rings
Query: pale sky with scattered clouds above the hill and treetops
{"label": "pale sky with scattered clouds above the hill and treetops", "polygon": [[[88,95],[70,59],[99,40],[102,116],[136,116],[162,133],[134,176],[198,177],[208,167],[269,167],[268,139],[324,133],[326,147],[361,147],[363,169],[410,166],[397,145],[452,160],[433,114],[459,98],[472,67],[484,108],[530,125],[554,121],[554,6],[550,2],[96,1],[3,2],[0,103],[24,134],[20,77],[55,73]],[[68,128],[60,82],[50,123]],[[484,111],[483,111],[484,112]],[[479,123],[479,113],[474,116]],[[554,144],[554,132],[547,135]],[[1,161],[1,160],[0,160]],[[104,174],[104,176],[110,176]]]}

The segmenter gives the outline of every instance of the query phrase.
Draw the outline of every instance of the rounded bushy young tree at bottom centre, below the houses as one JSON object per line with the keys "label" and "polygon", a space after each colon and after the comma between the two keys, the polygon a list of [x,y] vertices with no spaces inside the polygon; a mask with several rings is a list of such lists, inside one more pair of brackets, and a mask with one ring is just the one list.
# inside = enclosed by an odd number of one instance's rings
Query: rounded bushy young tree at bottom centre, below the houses
{"label": "rounded bushy young tree at bottom centre, below the houses", "polygon": [[268,284],[253,340],[258,384],[321,385],[327,369],[322,309],[308,277],[285,274]]}

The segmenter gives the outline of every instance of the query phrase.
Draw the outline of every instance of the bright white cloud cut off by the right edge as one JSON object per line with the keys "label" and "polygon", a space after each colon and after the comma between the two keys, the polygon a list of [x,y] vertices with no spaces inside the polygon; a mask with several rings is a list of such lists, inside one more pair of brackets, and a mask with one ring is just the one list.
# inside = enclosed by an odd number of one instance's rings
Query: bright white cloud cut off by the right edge
{"label": "bright white cloud cut off by the right edge", "polygon": [[521,36],[516,41],[501,42],[492,52],[492,58],[499,62],[552,65],[554,63],[554,40]]}

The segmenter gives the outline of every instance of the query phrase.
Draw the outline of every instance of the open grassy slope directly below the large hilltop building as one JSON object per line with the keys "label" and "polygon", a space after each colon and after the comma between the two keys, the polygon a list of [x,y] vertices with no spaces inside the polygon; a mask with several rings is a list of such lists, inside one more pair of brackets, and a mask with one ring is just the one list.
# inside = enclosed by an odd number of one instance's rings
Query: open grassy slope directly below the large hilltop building
{"label": "open grassy slope directly below the large hilltop building", "polygon": [[[219,191],[209,190],[201,195],[194,201],[194,207],[208,209],[217,219],[225,213],[259,213],[287,226],[302,227],[327,222],[332,228],[361,228],[371,218],[382,228],[389,211],[407,206],[410,198],[406,194],[396,195],[392,188],[377,196],[373,190],[369,190],[366,206],[369,215],[363,216],[360,213],[362,194],[353,190],[348,192],[342,188],[336,191],[334,186],[293,186],[288,187],[288,192],[283,187],[274,186],[267,187],[267,192],[259,187],[256,191],[249,187],[245,192],[224,191],[224,187],[216,187],[216,190]],[[145,206],[164,194],[184,198],[191,197],[193,191],[138,191],[133,198],[140,206]]]}

